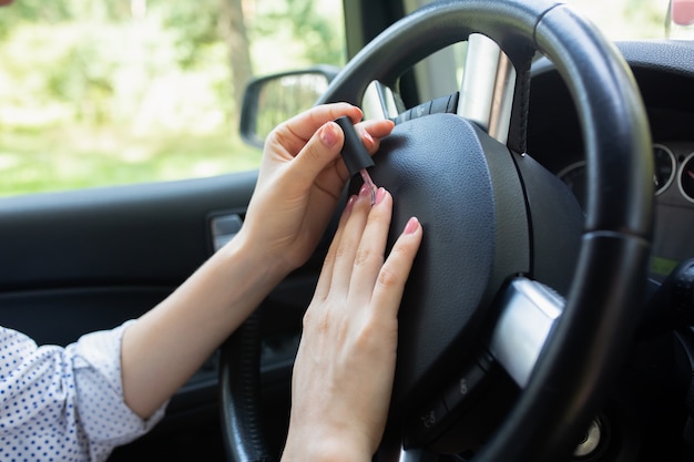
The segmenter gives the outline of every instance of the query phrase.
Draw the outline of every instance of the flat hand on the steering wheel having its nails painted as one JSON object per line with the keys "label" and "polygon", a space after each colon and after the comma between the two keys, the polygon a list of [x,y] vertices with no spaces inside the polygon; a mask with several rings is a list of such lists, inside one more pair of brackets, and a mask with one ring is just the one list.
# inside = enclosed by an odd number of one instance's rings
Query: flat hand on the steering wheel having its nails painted
{"label": "flat hand on the steering wheel having its nails painted", "polygon": [[410,218],[384,253],[392,197],[351,197],[304,318],[283,462],[371,460],[386,424],[397,314],[422,229]]}

